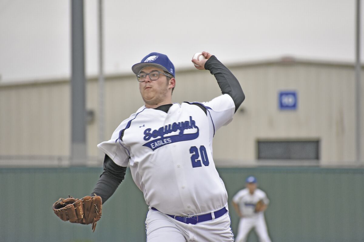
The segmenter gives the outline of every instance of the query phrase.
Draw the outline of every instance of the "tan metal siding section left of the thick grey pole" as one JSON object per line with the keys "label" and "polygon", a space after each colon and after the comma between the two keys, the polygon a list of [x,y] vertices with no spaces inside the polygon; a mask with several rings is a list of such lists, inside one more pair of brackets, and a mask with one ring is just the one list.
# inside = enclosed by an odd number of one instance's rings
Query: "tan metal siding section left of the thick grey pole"
{"label": "tan metal siding section left of the thick grey pole", "polygon": [[1,90],[1,155],[68,153],[69,98],[62,85]]}

